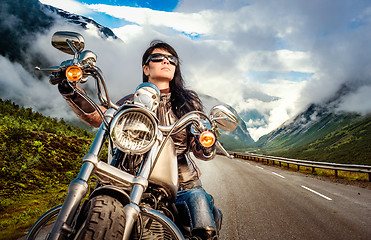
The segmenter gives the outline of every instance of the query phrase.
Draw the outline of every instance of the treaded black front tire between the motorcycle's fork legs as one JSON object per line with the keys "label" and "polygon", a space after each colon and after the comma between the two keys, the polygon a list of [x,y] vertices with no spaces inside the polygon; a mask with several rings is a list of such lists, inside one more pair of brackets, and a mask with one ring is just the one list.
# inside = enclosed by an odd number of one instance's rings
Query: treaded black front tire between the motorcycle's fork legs
{"label": "treaded black front tire between the motorcycle's fork legs", "polygon": [[98,195],[83,209],[86,216],[77,240],[122,239],[125,229],[124,206],[116,198]]}

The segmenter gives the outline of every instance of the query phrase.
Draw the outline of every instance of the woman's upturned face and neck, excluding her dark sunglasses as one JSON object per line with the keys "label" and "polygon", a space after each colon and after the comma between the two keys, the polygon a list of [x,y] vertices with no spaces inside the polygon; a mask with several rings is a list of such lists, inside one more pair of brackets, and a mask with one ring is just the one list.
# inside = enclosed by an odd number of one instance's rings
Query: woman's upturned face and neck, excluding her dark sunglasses
{"label": "woman's upturned face and neck, excluding her dark sunglasses", "polygon": [[[171,55],[163,49],[154,49],[151,54]],[[169,82],[174,78],[176,66],[171,64],[167,58],[162,61],[149,61],[143,66],[143,72],[148,76],[148,82],[155,84],[159,89],[169,88]]]}

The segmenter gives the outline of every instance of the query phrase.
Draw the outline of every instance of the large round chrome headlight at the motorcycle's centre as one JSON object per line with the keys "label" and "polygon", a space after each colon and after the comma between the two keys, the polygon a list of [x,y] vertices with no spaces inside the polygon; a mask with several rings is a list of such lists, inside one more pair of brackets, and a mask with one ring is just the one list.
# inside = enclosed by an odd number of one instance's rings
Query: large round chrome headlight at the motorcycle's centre
{"label": "large round chrome headlight at the motorcycle's centre", "polygon": [[111,126],[112,139],[123,152],[146,152],[156,140],[157,123],[144,109],[130,108],[120,112]]}

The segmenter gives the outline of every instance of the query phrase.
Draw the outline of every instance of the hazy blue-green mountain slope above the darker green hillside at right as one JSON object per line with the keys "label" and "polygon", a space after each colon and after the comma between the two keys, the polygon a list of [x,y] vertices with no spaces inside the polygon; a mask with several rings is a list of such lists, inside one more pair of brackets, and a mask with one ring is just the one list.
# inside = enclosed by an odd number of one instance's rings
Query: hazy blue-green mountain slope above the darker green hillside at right
{"label": "hazy blue-green mountain slope above the darker green hillside at right", "polygon": [[[304,156],[300,154],[309,146],[317,146],[317,151],[336,145],[339,140],[334,136],[346,136],[348,130],[344,129],[367,129],[370,118],[356,113],[340,112],[337,107],[344,96],[349,94],[352,88],[343,85],[337,93],[322,104],[311,104],[304,112],[284,123],[271,133],[261,137],[257,141],[257,147],[265,152],[288,153],[290,157]],[[352,130],[352,131],[353,131]],[[326,140],[327,139],[327,140]],[[329,141],[332,139],[332,141]],[[361,138],[361,141],[364,141]],[[328,145],[320,142],[327,142]],[[295,152],[295,154],[294,154]],[[286,154],[286,156],[288,156]],[[307,154],[306,158],[310,158]]]}

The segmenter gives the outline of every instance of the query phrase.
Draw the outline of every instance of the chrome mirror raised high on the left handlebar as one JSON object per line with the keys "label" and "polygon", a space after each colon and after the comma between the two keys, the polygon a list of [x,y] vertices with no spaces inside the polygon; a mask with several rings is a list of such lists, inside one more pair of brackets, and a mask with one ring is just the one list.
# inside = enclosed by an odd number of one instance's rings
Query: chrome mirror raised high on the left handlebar
{"label": "chrome mirror raised high on the left handlebar", "polygon": [[54,33],[52,45],[64,53],[75,55],[84,49],[85,41],[79,33],[59,31]]}

